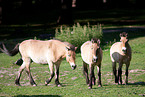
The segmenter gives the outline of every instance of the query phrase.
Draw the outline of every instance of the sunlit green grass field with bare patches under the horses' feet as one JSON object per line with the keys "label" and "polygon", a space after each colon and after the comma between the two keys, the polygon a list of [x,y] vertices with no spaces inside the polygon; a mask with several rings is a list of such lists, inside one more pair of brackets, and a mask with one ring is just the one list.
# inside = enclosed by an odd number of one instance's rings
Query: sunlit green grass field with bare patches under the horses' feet
{"label": "sunlit green grass field with bare patches under the horses' feet", "polygon": [[[21,85],[15,86],[14,81],[19,66],[13,63],[20,58],[20,55],[9,57],[0,53],[0,96],[30,96],[30,97],[138,97],[145,96],[145,37],[132,33],[130,45],[132,47],[132,61],[129,67],[129,85],[124,85],[125,66],[123,67],[123,85],[116,85],[112,75],[112,66],[109,56],[110,44],[103,47],[102,61],[102,87],[93,86],[88,89],[82,73],[82,59],[80,53],[76,55],[76,70],[64,60],[60,67],[60,82],[63,87],[56,87],[54,79],[48,86],[44,86],[45,80],[50,76],[48,65],[31,64],[31,72],[38,86],[33,87],[29,83],[28,76],[24,71],[21,76]],[[117,34],[104,34],[106,41],[112,36],[112,40],[118,37]],[[136,36],[136,37],[132,37]],[[110,39],[110,40],[111,40]],[[116,39],[118,41],[119,38]],[[21,41],[21,40],[18,40]],[[9,40],[17,42],[17,40]],[[97,78],[97,68],[95,74]]]}

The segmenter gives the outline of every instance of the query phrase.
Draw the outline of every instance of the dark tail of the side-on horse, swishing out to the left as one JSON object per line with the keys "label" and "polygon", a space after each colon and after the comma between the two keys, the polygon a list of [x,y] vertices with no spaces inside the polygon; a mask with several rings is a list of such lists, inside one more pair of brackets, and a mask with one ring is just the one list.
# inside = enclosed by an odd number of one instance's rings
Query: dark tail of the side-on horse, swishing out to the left
{"label": "dark tail of the side-on horse, swishing out to the left", "polygon": [[3,46],[3,49],[0,47],[0,50],[3,52],[3,53],[5,53],[5,54],[7,54],[7,55],[9,55],[9,56],[15,56],[18,52],[19,52],[19,43],[14,47],[14,49],[13,50],[11,50],[11,51],[8,51],[7,50],[7,48],[6,48],[6,46],[4,45],[4,43],[2,43],[2,46]]}

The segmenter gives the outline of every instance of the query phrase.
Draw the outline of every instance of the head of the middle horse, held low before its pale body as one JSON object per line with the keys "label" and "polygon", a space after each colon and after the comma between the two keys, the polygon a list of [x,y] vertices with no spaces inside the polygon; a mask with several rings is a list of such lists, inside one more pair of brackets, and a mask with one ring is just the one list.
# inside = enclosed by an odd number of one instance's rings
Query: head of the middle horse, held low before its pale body
{"label": "head of the middle horse, held low before its pale body", "polygon": [[92,62],[96,63],[98,60],[97,53],[98,53],[98,50],[100,49],[100,40],[97,38],[92,38],[91,42],[92,42],[92,45],[91,45]]}

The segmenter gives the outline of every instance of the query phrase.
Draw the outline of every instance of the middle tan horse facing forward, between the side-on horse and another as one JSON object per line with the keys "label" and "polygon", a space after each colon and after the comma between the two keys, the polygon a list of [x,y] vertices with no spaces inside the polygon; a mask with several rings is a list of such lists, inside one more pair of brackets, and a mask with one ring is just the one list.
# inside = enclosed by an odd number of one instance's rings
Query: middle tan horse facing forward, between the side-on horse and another
{"label": "middle tan horse facing forward, between the side-on horse and another", "polygon": [[[93,38],[91,41],[85,42],[81,46],[81,56],[83,59],[83,73],[86,77],[86,83],[89,85],[89,89],[92,85],[95,85],[96,78],[94,74],[94,67],[98,69],[98,87],[101,87],[101,61],[102,61],[102,49],[100,47],[100,40]],[[90,76],[88,77],[88,65],[90,69]]]}

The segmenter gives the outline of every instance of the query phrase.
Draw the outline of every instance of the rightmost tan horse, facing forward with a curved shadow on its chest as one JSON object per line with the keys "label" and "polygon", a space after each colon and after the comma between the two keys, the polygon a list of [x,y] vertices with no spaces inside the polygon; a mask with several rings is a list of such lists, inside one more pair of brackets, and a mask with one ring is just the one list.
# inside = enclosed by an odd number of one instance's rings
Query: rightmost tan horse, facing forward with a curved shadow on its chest
{"label": "rightmost tan horse, facing forward with a curved shadow on its chest", "polygon": [[[113,74],[115,76],[115,83],[122,84],[122,66],[126,64],[126,78],[125,84],[128,84],[128,68],[131,61],[131,47],[128,43],[127,33],[123,32],[120,34],[120,41],[114,43],[110,48],[110,57],[112,61]],[[116,63],[119,63],[118,76],[116,71]]]}

